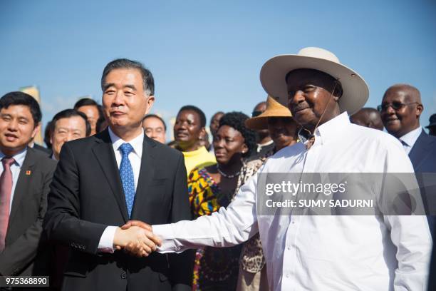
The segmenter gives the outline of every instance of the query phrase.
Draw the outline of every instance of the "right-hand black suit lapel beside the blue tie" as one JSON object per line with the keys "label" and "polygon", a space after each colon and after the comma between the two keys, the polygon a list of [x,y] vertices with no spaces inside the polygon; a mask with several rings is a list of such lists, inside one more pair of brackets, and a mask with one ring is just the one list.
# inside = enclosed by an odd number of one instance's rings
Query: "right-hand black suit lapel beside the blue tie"
{"label": "right-hand black suit lapel beside the blue tie", "polygon": [[141,205],[147,205],[147,198],[151,193],[147,193],[150,182],[155,174],[155,146],[156,143],[152,139],[144,135],[144,142],[142,143],[142,158],[140,175],[137,180],[135,203],[133,204],[132,218],[138,211],[146,211],[141,209]]}

